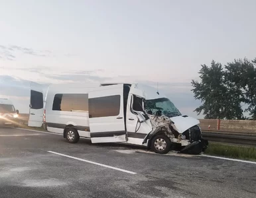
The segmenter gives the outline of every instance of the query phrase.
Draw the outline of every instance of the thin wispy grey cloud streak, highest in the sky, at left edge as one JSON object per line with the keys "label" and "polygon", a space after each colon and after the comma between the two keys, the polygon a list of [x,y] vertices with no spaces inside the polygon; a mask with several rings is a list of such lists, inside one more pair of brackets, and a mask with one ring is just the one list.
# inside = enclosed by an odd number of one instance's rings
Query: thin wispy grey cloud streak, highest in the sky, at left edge
{"label": "thin wispy grey cloud streak, highest in the sky, at left edge", "polygon": [[49,50],[35,50],[32,48],[23,48],[21,46],[2,46],[0,45],[0,58],[13,61],[17,57],[17,53],[23,53],[38,57],[48,57],[52,54]]}

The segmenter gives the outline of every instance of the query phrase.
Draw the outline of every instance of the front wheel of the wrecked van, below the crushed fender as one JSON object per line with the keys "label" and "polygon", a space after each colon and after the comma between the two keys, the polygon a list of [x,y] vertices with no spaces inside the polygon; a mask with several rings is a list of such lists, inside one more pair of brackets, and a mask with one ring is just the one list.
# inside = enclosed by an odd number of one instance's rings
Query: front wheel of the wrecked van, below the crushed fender
{"label": "front wheel of the wrecked van, below the crushed fender", "polygon": [[170,151],[172,143],[166,135],[156,135],[151,140],[151,149],[160,154],[166,154]]}

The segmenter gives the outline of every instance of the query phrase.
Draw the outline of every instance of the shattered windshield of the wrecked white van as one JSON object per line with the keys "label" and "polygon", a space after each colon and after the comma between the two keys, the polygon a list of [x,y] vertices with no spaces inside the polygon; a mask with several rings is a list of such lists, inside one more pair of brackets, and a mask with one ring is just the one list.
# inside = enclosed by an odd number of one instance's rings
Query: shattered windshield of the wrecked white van
{"label": "shattered windshield of the wrecked white van", "polygon": [[156,114],[160,110],[167,117],[181,116],[179,110],[168,98],[145,100],[145,110],[151,112],[151,114]]}

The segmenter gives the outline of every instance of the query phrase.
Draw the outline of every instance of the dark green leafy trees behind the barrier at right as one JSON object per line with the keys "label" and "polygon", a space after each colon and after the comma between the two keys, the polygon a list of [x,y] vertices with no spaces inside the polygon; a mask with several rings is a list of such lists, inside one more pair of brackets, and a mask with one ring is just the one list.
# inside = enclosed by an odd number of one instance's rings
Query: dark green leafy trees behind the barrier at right
{"label": "dark green leafy trees behind the barrier at right", "polygon": [[256,119],[256,58],[201,66],[200,81],[191,82],[194,98],[202,102],[194,110],[198,115],[203,113],[206,119]]}

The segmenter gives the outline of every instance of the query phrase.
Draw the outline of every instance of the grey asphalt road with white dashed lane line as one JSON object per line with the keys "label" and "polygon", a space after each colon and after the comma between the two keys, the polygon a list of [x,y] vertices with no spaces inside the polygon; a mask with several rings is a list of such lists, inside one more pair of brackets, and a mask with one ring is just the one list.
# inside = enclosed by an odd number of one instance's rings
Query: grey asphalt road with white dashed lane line
{"label": "grey asphalt road with white dashed lane line", "polygon": [[3,128],[0,197],[255,198],[256,164]]}

